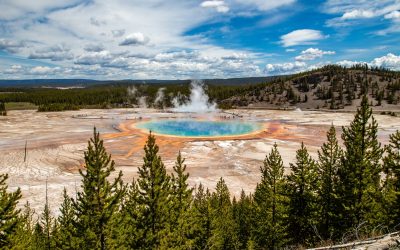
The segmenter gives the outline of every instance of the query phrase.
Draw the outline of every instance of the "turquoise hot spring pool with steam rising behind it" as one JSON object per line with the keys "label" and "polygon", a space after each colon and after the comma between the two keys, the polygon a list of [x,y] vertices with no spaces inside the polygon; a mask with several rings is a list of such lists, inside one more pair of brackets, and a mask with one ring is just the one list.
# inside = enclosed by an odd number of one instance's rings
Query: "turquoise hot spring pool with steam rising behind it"
{"label": "turquoise hot spring pool with steam rising behind it", "polygon": [[240,121],[152,120],[139,123],[137,127],[157,134],[205,137],[248,134],[261,129],[261,124]]}

